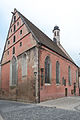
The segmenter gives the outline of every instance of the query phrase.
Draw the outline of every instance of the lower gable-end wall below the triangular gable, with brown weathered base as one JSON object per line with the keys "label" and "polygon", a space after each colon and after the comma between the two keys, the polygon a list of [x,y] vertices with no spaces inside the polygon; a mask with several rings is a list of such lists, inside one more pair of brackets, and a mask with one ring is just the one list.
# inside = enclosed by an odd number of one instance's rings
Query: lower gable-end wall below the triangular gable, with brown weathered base
{"label": "lower gable-end wall below the triangular gable, with brown weathered base", "polygon": [[[22,76],[23,55],[26,55],[26,75]],[[0,97],[4,99],[21,100],[28,102],[38,101],[38,49],[34,47],[17,56],[17,84],[11,85],[12,70],[10,64],[2,65]],[[24,66],[24,67],[25,67]],[[25,68],[23,68],[25,69]],[[35,73],[36,72],[36,76]]]}

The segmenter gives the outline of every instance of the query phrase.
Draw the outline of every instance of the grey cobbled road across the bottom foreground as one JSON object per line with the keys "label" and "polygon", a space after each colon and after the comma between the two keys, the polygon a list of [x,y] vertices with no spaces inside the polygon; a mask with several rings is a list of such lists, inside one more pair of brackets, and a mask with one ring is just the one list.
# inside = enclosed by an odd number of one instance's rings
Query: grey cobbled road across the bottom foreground
{"label": "grey cobbled road across the bottom foreground", "polygon": [[74,111],[0,100],[0,114],[4,120],[80,120],[79,107]]}

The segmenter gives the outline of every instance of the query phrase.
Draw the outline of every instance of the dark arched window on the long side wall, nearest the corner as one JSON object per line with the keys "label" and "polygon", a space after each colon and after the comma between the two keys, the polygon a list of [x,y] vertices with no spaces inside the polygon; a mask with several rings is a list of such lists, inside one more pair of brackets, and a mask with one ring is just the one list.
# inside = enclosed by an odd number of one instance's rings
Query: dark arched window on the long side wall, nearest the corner
{"label": "dark arched window on the long side wall, nearest the corner", "polygon": [[45,83],[50,83],[50,58],[45,59]]}

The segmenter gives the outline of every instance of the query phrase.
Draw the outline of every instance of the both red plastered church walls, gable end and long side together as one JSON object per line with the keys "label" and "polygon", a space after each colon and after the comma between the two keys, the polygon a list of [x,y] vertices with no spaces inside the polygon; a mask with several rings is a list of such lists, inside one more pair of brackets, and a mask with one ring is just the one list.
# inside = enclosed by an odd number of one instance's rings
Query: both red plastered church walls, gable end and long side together
{"label": "both red plastered church walls, gable end and long side together", "polygon": [[[9,28],[7,41],[5,44],[2,62],[1,62],[1,89],[7,91],[9,99],[26,99],[32,102],[40,102],[48,99],[59,98],[74,95],[74,83],[76,83],[76,95],[79,94],[78,82],[76,82],[76,71],[78,67],[71,61],[57,54],[56,52],[44,47],[39,48],[35,36],[23,22],[17,12],[15,12],[16,21],[13,21]],[[19,24],[18,24],[19,23]],[[16,30],[14,31],[14,25]],[[22,30],[22,34],[20,34]],[[15,42],[13,37],[16,36]],[[9,44],[8,44],[9,41]],[[20,46],[20,42],[22,45]],[[15,53],[13,54],[13,47]],[[23,56],[26,55],[26,75],[22,75],[22,65],[24,66]],[[50,84],[45,84],[45,59],[50,58]],[[15,57],[17,64],[17,83],[11,85],[12,81],[12,59]],[[56,62],[60,64],[60,84],[56,84]],[[24,67],[25,67],[24,66]],[[68,67],[71,68],[71,85],[68,82]],[[41,85],[41,68],[43,68],[43,85]],[[36,74],[36,75],[35,75]],[[66,80],[66,86],[63,85],[62,78]],[[67,93],[66,93],[67,89]],[[17,96],[17,97],[16,97]],[[3,97],[3,95],[2,95]],[[5,96],[6,98],[6,96]]]}

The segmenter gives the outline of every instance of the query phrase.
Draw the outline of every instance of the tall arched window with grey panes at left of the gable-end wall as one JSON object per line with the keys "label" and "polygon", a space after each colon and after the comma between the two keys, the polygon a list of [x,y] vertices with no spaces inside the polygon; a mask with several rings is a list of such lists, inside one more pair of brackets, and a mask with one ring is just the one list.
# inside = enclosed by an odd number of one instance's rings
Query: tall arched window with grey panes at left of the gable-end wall
{"label": "tall arched window with grey panes at left of the gable-end wall", "polygon": [[16,58],[12,58],[12,85],[15,85],[17,82],[17,61]]}

